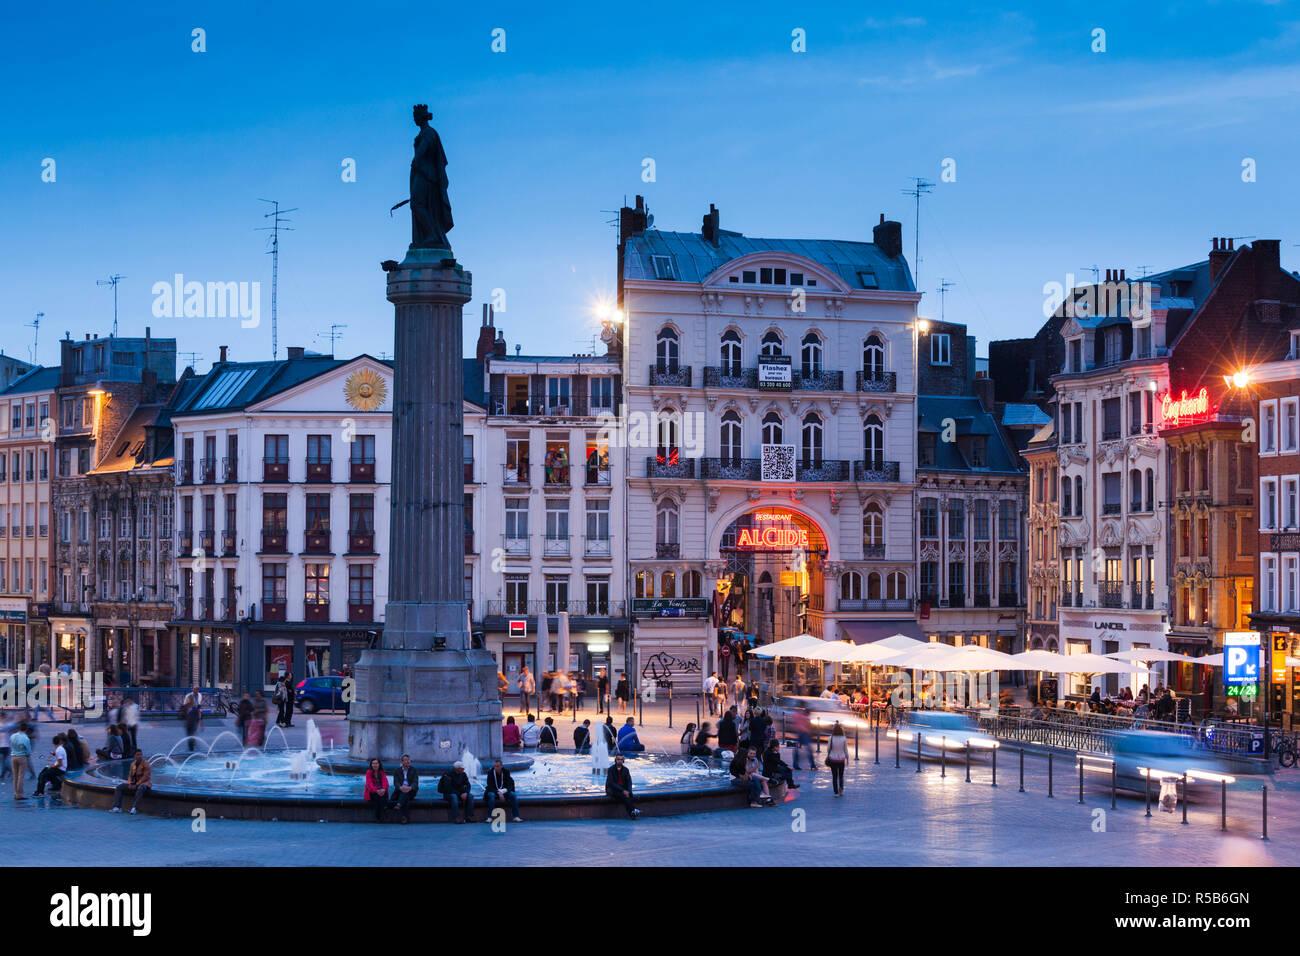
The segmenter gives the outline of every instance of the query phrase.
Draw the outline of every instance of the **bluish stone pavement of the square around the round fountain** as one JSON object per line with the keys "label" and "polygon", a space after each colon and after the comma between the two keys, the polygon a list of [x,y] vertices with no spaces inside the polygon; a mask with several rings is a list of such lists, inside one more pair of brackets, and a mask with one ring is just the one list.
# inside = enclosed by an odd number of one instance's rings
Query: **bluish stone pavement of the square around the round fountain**
{"label": "bluish stone pavement of the square around the round fountain", "polygon": [[[677,753],[685,719],[694,704],[675,709],[668,727],[664,704],[646,709],[642,740],[653,750]],[[584,711],[593,723],[603,715]],[[346,747],[342,715],[315,717],[322,739]],[[618,723],[623,717],[615,715]],[[707,715],[706,715],[707,719]],[[560,740],[572,740],[569,717],[556,719]],[[39,726],[36,753],[65,724]],[[306,743],[307,718],[298,715],[290,745]],[[200,735],[213,739],[229,721],[208,719]],[[79,724],[92,748],[103,724]],[[146,721],[140,740],[147,753],[166,752],[183,736],[177,719]],[[278,735],[277,735],[278,736]],[[278,741],[277,741],[278,743]],[[0,864],[6,866],[1217,866],[1300,865],[1300,770],[1269,780],[1269,840],[1261,840],[1260,788],[1268,778],[1243,778],[1230,788],[1227,832],[1219,831],[1219,801],[1210,788],[1193,800],[1188,825],[1182,813],[1153,808],[1123,793],[1110,808],[1108,782],[1088,780],[1078,803],[1072,767],[1056,763],[1054,797],[1048,797],[1046,760],[1026,756],[1024,790],[1018,788],[1015,750],[992,769],[978,760],[972,780],[965,763],[946,766],[901,754],[881,734],[880,762],[874,740],[858,741],[844,797],[831,792],[829,771],[820,766],[797,774],[794,799],[771,809],[736,809],[641,821],[550,821],[488,826],[396,826],[364,823],[265,823],[208,818],[108,814],[69,806],[48,797],[16,803],[9,782],[0,790]],[[850,756],[853,741],[850,740]],[[43,760],[40,761],[43,762]],[[633,773],[636,766],[632,763]],[[32,792],[29,782],[27,793]]]}

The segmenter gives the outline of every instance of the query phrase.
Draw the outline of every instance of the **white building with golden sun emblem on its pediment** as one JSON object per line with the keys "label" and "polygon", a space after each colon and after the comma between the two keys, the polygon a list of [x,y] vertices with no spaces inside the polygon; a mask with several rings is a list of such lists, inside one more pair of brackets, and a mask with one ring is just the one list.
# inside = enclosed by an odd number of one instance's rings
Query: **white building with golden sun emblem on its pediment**
{"label": "white building with golden sun emblem on its pediment", "polygon": [[181,684],[339,671],[387,594],[391,368],[290,347],[221,360],[172,412]]}

